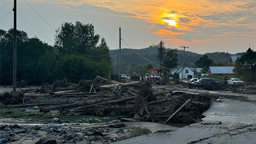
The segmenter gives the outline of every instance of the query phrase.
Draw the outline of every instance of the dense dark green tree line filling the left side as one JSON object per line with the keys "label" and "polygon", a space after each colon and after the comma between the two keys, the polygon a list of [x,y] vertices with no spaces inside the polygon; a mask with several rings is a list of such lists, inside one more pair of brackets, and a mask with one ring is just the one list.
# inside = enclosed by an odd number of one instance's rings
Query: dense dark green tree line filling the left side
{"label": "dense dark green tree line filling the left side", "polygon": [[[111,57],[105,38],[92,24],[64,22],[56,30],[53,46],[17,30],[17,81],[41,85],[67,79],[78,83],[108,77]],[[93,56],[93,57],[92,57]],[[13,29],[0,29],[0,84],[11,85],[13,74]]]}

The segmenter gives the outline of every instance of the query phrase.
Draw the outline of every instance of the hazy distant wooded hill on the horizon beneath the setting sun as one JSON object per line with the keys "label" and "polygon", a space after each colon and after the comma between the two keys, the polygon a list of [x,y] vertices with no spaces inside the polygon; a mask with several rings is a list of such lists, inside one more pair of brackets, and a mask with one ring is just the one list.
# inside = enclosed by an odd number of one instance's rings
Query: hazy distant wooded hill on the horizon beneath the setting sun
{"label": "hazy distant wooded hill on the horizon beneath the setting sun", "polygon": [[[156,64],[160,64],[157,60],[157,53],[158,53],[158,47],[157,45],[152,45],[143,49],[133,49],[135,52],[140,54],[141,56],[145,57],[149,61],[152,61]],[[170,51],[170,48],[166,49],[167,51]],[[178,63],[182,63],[183,59],[183,51],[176,49],[177,54],[179,54],[178,58]],[[119,62],[119,50],[110,50],[110,56],[112,57],[112,64],[115,64],[115,56],[117,63]],[[143,59],[141,56],[133,52],[131,49],[121,49],[121,61],[122,64],[146,64],[150,63]],[[224,65],[226,65],[226,62],[228,61],[228,58],[230,57],[230,53],[228,52],[208,52],[206,53],[209,59],[212,59],[215,63],[217,62],[223,62]],[[242,55],[243,53],[238,53],[237,55]],[[195,63],[195,61],[199,60],[200,57],[203,57],[204,54],[197,54],[195,52],[188,51],[188,49],[185,50],[185,57],[187,57],[191,62]],[[185,58],[185,63],[189,67],[194,67],[186,58]],[[154,65],[157,66],[157,65]]]}

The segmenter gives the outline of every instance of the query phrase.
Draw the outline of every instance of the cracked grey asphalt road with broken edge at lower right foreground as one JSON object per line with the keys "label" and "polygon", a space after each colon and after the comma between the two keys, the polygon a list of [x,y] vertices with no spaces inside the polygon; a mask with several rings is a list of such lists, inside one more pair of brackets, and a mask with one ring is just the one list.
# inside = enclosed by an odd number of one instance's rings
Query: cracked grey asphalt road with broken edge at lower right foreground
{"label": "cracked grey asphalt road with broken edge at lower right foreground", "polygon": [[113,144],[256,144],[255,103],[238,100],[213,102],[203,115],[206,117],[201,123]]}

